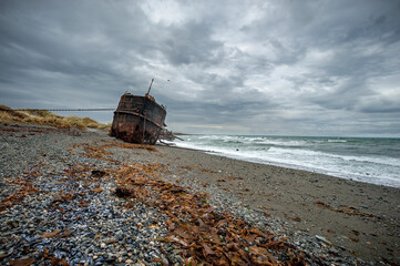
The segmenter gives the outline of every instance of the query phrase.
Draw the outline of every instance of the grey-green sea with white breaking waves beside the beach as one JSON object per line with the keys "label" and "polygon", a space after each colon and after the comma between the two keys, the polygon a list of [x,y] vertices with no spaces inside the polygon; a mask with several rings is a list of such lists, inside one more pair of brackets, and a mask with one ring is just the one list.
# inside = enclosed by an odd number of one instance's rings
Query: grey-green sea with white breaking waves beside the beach
{"label": "grey-green sea with white breaking waves beside the beach", "polygon": [[181,147],[400,188],[400,139],[182,135]]}

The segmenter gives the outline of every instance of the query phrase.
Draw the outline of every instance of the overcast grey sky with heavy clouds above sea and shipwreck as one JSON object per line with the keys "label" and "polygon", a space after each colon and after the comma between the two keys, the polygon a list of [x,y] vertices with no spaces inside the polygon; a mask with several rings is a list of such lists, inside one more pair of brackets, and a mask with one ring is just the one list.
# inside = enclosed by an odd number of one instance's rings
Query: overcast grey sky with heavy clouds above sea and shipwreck
{"label": "overcast grey sky with heavy clouds above sea and shipwreck", "polygon": [[2,0],[0,104],[116,108],[154,78],[177,132],[400,136],[399,13],[398,0]]}

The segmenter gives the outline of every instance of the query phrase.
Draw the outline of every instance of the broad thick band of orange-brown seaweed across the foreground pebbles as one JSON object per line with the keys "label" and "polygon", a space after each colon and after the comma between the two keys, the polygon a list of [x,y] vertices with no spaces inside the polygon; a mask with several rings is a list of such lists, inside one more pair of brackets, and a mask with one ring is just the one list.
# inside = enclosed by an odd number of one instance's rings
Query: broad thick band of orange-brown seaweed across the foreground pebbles
{"label": "broad thick band of orange-brown seaweed across the foreground pebbles", "polygon": [[158,241],[178,245],[186,265],[306,264],[274,233],[261,232],[230,212],[216,211],[207,195],[156,178],[157,172],[163,172],[163,165],[122,167],[115,193],[157,206],[168,216],[168,233]]}

